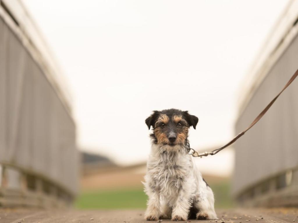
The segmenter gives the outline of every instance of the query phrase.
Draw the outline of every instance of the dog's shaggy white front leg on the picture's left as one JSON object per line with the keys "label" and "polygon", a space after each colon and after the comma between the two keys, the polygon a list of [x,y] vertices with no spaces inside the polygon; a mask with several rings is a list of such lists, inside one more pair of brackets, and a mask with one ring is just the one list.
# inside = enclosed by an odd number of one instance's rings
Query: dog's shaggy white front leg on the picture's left
{"label": "dog's shaggy white front leg on the picture's left", "polygon": [[[147,221],[157,221],[160,216],[160,195],[159,189],[153,186],[152,183],[145,185],[145,192],[148,195],[147,209],[145,212],[145,219]],[[149,186],[150,185],[150,186]]]}

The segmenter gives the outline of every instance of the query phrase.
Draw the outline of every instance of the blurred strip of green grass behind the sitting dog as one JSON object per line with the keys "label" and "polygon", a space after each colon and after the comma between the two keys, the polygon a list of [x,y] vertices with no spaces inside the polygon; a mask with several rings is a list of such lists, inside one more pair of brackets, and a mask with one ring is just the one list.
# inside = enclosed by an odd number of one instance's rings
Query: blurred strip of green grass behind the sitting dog
{"label": "blurred strip of green grass behind the sitting dog", "polygon": [[[210,183],[215,194],[216,208],[233,206],[229,181]],[[146,208],[147,195],[142,188],[101,191],[83,191],[75,202],[78,209],[132,209]]]}

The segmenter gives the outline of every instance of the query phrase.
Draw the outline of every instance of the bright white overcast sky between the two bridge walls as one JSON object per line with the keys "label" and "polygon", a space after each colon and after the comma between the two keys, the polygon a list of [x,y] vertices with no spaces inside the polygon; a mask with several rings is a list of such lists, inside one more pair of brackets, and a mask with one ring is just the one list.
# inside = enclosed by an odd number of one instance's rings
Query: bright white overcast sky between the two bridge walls
{"label": "bright white overcast sky between the two bridge walls", "polygon": [[152,110],[198,116],[197,149],[234,136],[238,86],[288,1],[23,2],[72,90],[78,145],[132,164]]}

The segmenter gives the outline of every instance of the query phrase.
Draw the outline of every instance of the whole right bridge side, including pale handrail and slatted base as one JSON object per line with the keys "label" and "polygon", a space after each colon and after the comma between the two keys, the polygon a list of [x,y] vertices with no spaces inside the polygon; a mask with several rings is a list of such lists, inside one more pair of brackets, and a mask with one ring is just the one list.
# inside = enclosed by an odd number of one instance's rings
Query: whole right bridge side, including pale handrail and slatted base
{"label": "whole right bridge side, including pale handrail and slatted base", "polygon": [[[283,36],[279,35],[279,41],[275,41],[276,35],[269,36],[266,43],[270,43],[270,51],[265,44],[249,72],[255,78],[252,83],[246,83],[251,89],[244,94],[245,103],[239,108],[236,133],[247,127],[297,70],[297,13],[297,2],[290,1],[278,23]],[[298,181],[294,177],[298,174],[297,95],[298,80],[295,80],[262,120],[235,143],[233,194],[241,203],[271,207],[298,205]]]}

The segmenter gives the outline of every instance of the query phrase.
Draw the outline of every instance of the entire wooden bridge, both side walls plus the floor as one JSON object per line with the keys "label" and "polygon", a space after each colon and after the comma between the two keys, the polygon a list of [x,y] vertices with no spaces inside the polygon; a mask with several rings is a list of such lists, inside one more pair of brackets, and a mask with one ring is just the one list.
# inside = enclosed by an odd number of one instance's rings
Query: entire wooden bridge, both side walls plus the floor
{"label": "entire wooden bridge, both side walls plus the floor", "polygon": [[[298,1],[290,1],[252,71],[257,78],[242,100],[237,132],[297,69],[297,18]],[[21,1],[0,0],[0,222],[145,222],[144,210],[65,209],[78,192],[79,155],[71,99],[60,74]],[[236,144],[234,196],[243,205],[297,207],[297,89],[293,83],[272,112]],[[204,222],[298,221],[297,208],[217,213],[219,220]]]}

